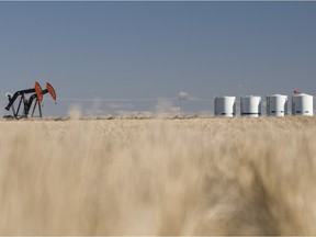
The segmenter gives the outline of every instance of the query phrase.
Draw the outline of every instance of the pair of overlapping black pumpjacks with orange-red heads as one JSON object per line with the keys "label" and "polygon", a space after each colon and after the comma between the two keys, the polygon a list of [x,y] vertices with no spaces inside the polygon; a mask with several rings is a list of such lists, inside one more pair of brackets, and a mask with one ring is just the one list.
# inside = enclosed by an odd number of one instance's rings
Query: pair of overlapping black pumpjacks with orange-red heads
{"label": "pair of overlapping black pumpjacks with orange-red heads", "polygon": [[[41,84],[36,81],[34,88],[25,89],[25,90],[19,90],[16,91],[13,97],[11,94],[8,94],[9,103],[5,106],[7,111],[10,111],[12,109],[13,117],[16,120],[20,119],[27,119],[30,110],[33,105],[33,111],[31,114],[31,117],[34,116],[34,112],[36,106],[38,108],[38,116],[42,117],[42,101],[43,95],[49,93],[54,101],[56,101],[56,92],[53,86],[48,82],[46,82],[46,89],[42,90]],[[30,98],[26,98],[26,94],[31,94]],[[16,99],[20,99],[18,109],[14,108],[14,102]],[[21,105],[23,105],[23,111],[20,112]],[[11,116],[12,117],[12,116]]]}

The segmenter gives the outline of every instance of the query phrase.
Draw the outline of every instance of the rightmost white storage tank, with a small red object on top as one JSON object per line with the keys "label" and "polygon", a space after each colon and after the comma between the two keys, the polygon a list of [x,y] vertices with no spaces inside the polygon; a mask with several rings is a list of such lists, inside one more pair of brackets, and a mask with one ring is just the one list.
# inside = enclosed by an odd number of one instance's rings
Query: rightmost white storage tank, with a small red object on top
{"label": "rightmost white storage tank, with a small red object on top", "polygon": [[313,95],[298,93],[292,97],[292,114],[313,116]]}

